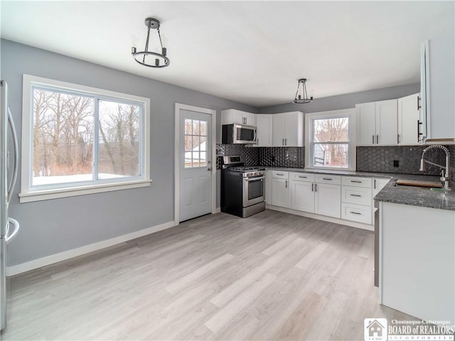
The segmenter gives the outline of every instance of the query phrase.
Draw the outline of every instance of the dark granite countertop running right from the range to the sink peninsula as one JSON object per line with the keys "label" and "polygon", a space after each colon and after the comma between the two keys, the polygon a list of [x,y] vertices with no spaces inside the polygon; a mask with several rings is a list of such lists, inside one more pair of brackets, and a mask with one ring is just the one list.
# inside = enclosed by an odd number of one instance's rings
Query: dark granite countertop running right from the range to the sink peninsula
{"label": "dark granite countertop running right from the range to the sink peninsula", "polygon": [[325,171],[305,168],[265,167],[271,171],[305,172],[316,174],[333,174],[345,176],[360,176],[368,178],[389,178],[391,181],[375,196],[375,201],[392,202],[402,205],[437,208],[439,210],[455,211],[455,188],[450,191],[433,191],[429,188],[396,185],[398,179],[439,181],[439,176],[412,175],[394,173],[370,173],[355,171]]}

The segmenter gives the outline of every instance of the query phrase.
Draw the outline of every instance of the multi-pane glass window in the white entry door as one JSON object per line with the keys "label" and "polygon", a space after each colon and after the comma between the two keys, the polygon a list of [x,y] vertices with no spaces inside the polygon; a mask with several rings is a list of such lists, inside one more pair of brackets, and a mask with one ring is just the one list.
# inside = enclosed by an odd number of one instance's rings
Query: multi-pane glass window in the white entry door
{"label": "multi-pane glass window in the white entry door", "polygon": [[185,168],[205,167],[207,121],[185,119]]}

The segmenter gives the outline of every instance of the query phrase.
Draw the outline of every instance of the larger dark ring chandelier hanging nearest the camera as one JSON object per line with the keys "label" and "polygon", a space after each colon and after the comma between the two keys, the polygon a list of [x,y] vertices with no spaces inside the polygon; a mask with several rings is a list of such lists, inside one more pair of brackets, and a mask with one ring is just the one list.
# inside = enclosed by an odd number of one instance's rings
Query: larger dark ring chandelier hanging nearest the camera
{"label": "larger dark ring chandelier hanging nearest the camera", "polygon": [[[147,40],[145,43],[145,50],[137,52],[136,48],[133,46],[131,48],[131,54],[133,55],[134,60],[136,60],[137,63],[148,67],[169,66],[171,60],[167,58],[167,50],[163,47],[163,43],[161,41],[161,34],[159,33],[159,20],[156,18],[146,18],[145,26],[147,26]],[[150,30],[156,30],[158,32],[159,45],[161,45],[161,53],[149,51]],[[149,63],[147,61],[147,57],[154,59],[152,63]]]}

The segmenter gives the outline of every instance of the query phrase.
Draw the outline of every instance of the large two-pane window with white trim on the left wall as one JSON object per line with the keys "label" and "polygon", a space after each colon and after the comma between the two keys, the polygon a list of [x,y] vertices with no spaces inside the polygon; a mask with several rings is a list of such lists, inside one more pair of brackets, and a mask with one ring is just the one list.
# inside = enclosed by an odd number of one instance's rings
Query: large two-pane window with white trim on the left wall
{"label": "large two-pane window with white trim on the left wall", "polygon": [[149,99],[23,76],[21,202],[143,187]]}

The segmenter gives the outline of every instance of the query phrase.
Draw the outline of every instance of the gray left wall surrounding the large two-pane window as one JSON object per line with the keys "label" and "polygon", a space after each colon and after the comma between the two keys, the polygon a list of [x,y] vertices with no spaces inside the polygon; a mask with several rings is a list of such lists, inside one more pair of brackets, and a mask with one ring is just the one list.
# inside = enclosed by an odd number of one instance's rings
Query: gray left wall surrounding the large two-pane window
{"label": "gray left wall surrounding the large two-pane window", "polygon": [[[19,144],[24,73],[149,97],[153,183],[149,188],[19,204],[19,177],[9,209],[11,217],[21,223],[21,232],[9,247],[9,266],[172,221],[176,102],[216,109],[218,122],[222,109],[257,111],[227,99],[1,40],[1,76],[9,83],[9,106]],[[217,136],[219,132],[218,124]]]}

